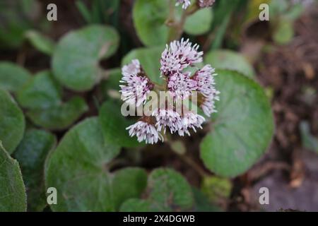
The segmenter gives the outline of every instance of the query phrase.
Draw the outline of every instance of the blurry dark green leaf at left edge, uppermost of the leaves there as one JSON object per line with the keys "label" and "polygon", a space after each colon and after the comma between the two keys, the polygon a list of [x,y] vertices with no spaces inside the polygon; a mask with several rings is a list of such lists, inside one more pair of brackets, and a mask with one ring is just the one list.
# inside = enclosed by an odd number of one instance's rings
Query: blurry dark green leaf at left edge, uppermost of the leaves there
{"label": "blurry dark green leaf at left edge, uppermost of the leaves there", "polygon": [[0,62],[0,88],[9,92],[16,92],[31,77],[30,73],[11,62]]}

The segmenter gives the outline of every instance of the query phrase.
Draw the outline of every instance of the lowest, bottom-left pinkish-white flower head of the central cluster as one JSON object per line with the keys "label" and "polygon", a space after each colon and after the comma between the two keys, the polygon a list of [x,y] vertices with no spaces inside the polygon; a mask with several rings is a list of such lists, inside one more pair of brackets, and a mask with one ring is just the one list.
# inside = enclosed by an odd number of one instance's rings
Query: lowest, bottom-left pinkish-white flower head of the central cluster
{"label": "lowest, bottom-left pinkish-white flower head of the central cluster", "polygon": [[153,144],[163,141],[163,136],[158,133],[155,126],[145,121],[137,121],[126,129],[129,130],[129,136],[136,136],[139,142],[145,141],[146,143]]}

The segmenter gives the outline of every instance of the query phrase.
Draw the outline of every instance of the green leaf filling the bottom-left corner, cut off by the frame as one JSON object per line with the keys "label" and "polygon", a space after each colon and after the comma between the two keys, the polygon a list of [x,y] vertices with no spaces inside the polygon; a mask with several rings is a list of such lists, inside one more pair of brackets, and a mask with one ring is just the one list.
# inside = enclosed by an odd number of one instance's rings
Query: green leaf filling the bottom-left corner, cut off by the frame
{"label": "green leaf filling the bottom-left corner, cut off by the frame", "polygon": [[26,194],[20,167],[0,141],[0,212],[26,211]]}

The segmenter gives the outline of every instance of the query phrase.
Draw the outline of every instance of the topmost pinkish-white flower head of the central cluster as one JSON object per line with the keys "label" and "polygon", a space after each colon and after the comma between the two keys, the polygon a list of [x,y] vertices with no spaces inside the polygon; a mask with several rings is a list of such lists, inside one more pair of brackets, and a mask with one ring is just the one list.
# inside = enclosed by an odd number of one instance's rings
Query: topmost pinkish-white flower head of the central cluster
{"label": "topmost pinkish-white flower head of the central cluster", "polygon": [[161,54],[161,75],[170,76],[177,72],[182,72],[187,66],[202,62],[203,52],[198,52],[199,45],[184,41],[173,41],[166,46]]}

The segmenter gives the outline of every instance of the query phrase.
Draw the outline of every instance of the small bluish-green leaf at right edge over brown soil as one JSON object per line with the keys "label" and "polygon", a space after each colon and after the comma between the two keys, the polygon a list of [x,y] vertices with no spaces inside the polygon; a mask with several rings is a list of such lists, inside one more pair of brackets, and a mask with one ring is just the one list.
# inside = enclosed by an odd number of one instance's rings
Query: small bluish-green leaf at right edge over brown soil
{"label": "small bluish-green leaf at right edge over brown soil", "polygon": [[309,150],[318,153],[318,138],[314,137],[310,132],[310,124],[307,121],[300,122],[300,136],[302,145]]}

